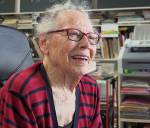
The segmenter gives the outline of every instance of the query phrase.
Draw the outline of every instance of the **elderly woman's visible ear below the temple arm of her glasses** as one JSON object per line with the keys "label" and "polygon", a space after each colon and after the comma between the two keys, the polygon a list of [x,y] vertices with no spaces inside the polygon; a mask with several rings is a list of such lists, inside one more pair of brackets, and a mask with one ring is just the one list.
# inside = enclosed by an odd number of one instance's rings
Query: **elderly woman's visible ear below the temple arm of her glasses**
{"label": "elderly woman's visible ear below the temple arm of her glasses", "polygon": [[47,55],[48,54],[48,45],[47,45],[46,34],[40,34],[39,35],[38,43],[39,43],[39,47],[40,47],[41,52],[44,55]]}

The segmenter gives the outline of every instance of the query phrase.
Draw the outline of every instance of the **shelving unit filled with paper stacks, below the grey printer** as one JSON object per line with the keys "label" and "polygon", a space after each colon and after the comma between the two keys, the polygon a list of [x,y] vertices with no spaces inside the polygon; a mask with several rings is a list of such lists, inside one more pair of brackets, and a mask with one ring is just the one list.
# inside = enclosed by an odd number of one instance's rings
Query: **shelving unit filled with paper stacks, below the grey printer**
{"label": "shelving unit filled with paper stacks, below the grey printer", "polygon": [[[118,86],[119,128],[150,126],[149,76],[120,75]],[[132,124],[132,125],[131,125]]]}

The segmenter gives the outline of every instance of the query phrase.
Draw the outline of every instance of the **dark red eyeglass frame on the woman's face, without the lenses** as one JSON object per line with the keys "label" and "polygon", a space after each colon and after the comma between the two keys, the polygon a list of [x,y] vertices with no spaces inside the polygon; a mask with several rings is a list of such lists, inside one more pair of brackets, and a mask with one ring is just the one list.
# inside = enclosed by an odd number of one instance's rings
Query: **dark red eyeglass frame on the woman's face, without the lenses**
{"label": "dark red eyeglass frame on the woman's face, without the lenses", "polygon": [[[78,40],[74,40],[74,39],[70,38],[70,36],[69,36],[69,31],[70,30],[78,31],[81,34],[80,38]],[[66,29],[59,29],[59,30],[54,30],[54,31],[48,31],[47,34],[57,33],[57,32],[64,32],[64,31],[67,32],[68,39],[71,40],[71,41],[78,42],[78,41],[80,41],[83,38],[83,36],[86,36],[88,38],[89,34],[96,34],[97,35],[97,41],[95,43],[92,43],[92,42],[89,41],[91,45],[97,45],[99,43],[99,40],[100,40],[100,34],[98,34],[97,32],[84,33],[81,30],[76,29],[76,28],[66,28]],[[90,40],[90,39],[88,38],[88,40]]]}

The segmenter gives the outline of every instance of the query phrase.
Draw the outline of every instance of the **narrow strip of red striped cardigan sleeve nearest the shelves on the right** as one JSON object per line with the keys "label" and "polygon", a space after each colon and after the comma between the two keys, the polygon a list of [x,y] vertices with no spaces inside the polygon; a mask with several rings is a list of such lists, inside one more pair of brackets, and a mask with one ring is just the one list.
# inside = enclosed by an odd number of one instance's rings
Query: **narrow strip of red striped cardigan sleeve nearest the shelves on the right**
{"label": "narrow strip of red striped cardigan sleeve nearest the shelves on the right", "polygon": [[101,112],[100,112],[100,94],[99,94],[98,86],[96,90],[97,90],[97,93],[96,93],[95,113],[91,120],[91,124],[89,128],[103,128]]}

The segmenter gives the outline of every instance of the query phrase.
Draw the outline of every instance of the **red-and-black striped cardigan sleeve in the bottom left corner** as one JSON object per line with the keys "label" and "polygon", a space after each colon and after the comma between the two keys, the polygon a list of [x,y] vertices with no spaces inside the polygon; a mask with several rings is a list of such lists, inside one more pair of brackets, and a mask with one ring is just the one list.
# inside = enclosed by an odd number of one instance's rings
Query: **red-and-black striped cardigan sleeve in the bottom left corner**
{"label": "red-and-black striped cardigan sleeve in the bottom left corner", "polygon": [[0,90],[0,128],[37,128],[23,97],[5,87]]}

